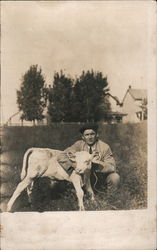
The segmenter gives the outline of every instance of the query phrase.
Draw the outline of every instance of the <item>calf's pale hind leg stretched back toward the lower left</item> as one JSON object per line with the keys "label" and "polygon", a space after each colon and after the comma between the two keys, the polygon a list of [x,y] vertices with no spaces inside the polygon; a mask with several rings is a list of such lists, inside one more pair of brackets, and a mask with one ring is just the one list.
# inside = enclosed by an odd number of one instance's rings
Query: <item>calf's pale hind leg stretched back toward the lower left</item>
{"label": "calf's pale hind leg stretched back toward the lower left", "polygon": [[18,198],[18,196],[21,194],[21,192],[27,188],[32,182],[32,179],[29,177],[26,177],[23,181],[21,181],[17,188],[15,189],[11,199],[9,200],[8,204],[7,204],[7,212],[9,212],[13,206],[13,203],[15,202],[15,200]]}

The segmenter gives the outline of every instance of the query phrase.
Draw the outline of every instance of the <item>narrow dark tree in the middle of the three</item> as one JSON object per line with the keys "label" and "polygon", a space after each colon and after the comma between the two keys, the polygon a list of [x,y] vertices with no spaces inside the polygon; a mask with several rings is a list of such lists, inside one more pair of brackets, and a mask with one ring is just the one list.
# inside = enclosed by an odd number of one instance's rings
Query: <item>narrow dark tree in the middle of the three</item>
{"label": "narrow dark tree in the middle of the three", "polygon": [[55,73],[53,88],[49,93],[48,113],[53,122],[71,121],[73,80],[62,70]]}

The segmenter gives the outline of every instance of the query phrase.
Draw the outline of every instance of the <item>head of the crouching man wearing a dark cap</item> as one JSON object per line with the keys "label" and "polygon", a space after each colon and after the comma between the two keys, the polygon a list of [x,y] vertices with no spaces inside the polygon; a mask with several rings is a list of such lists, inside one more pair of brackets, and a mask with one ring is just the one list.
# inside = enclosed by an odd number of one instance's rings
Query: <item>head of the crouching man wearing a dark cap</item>
{"label": "head of the crouching man wearing a dark cap", "polygon": [[86,124],[80,128],[82,139],[88,144],[93,145],[98,138],[98,126],[95,124]]}

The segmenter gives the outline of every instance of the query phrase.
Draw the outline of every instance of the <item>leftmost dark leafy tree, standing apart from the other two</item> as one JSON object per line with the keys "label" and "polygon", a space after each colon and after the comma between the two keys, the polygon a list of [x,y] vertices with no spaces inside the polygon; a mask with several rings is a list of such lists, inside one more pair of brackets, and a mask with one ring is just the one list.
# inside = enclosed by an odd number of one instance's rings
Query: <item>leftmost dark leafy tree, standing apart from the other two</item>
{"label": "leftmost dark leafy tree, standing apart from the other two", "polygon": [[18,108],[22,111],[21,119],[27,121],[43,119],[45,102],[43,99],[44,77],[38,65],[30,66],[22,77],[20,90],[17,90]]}

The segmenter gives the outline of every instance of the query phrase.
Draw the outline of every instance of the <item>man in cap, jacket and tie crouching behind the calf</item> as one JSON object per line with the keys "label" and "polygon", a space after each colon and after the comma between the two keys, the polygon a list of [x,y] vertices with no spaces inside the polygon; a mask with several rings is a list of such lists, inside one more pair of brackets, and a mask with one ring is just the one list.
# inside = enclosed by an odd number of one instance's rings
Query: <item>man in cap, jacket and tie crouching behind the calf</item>
{"label": "man in cap, jacket and tie crouching behind the calf", "polygon": [[[86,124],[80,128],[80,133],[82,140],[75,142],[65,151],[87,151],[90,154],[94,152],[92,170],[96,172],[98,179],[102,179],[103,184],[107,185],[109,192],[115,191],[119,185],[120,176],[116,172],[115,160],[109,145],[98,138],[98,126]],[[92,179],[91,176],[91,182],[93,182]]]}

